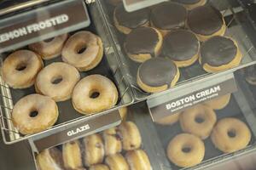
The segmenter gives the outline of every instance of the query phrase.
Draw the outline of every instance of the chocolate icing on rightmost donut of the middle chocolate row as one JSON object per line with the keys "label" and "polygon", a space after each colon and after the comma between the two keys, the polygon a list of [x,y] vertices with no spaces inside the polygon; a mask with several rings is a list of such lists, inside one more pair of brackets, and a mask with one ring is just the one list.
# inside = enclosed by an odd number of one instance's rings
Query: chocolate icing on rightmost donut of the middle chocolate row
{"label": "chocolate icing on rightmost donut of the middle chocolate row", "polygon": [[237,54],[235,43],[226,37],[212,37],[201,46],[201,62],[212,66],[227,65]]}

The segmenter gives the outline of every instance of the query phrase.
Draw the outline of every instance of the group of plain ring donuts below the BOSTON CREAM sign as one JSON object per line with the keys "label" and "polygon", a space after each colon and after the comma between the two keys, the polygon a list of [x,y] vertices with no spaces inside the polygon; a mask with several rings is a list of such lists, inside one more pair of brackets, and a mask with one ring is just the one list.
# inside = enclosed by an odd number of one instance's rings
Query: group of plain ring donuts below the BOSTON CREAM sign
{"label": "group of plain ring donuts below the BOSTON CREAM sign", "polygon": [[158,121],[160,125],[172,125],[179,121],[183,133],[177,134],[167,146],[167,156],[178,167],[193,167],[204,160],[204,141],[211,138],[212,144],[224,153],[232,153],[247,147],[251,131],[245,122],[225,117],[217,120],[215,111],[224,109],[230,102],[227,94],[195,105],[182,113],[176,113]]}

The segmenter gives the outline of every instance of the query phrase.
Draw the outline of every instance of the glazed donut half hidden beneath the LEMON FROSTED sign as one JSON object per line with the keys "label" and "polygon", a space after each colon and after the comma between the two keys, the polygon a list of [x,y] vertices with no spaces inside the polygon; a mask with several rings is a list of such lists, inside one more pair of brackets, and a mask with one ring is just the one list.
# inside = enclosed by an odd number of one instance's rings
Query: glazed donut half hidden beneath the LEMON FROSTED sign
{"label": "glazed donut half hidden beneath the LEMON FROSTED sign", "polygon": [[43,42],[32,43],[28,45],[28,48],[39,54],[42,59],[54,59],[61,54],[67,37],[67,34],[63,34],[58,37],[49,38]]}

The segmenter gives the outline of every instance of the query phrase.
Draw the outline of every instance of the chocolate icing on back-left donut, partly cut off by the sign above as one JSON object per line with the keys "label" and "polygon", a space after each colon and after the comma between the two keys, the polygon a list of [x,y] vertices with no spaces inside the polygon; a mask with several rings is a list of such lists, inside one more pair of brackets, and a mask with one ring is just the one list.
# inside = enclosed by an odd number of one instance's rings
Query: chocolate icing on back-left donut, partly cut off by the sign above
{"label": "chocolate icing on back-left donut, partly cut off by the sign above", "polygon": [[148,8],[128,13],[125,11],[123,3],[115,8],[115,18],[118,20],[119,25],[131,29],[147,24],[149,21],[149,14],[150,10]]}

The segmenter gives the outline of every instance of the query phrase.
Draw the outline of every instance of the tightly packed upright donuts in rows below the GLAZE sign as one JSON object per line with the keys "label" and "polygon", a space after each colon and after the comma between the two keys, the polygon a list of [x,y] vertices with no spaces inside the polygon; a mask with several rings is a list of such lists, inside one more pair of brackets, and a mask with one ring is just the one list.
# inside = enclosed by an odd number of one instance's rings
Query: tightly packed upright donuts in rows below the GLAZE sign
{"label": "tightly packed upright donuts in rows below the GLAZE sign", "polygon": [[102,133],[75,140],[37,156],[41,170],[150,170],[148,155],[142,149],[140,132],[133,122],[123,122]]}

